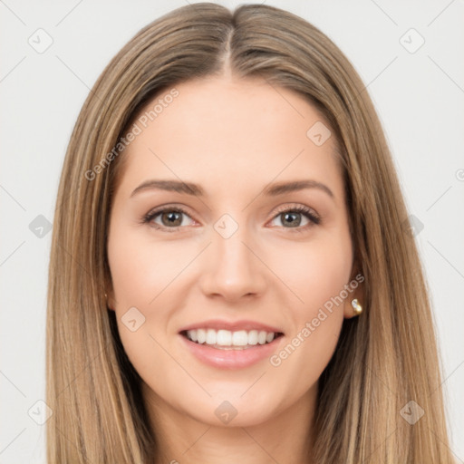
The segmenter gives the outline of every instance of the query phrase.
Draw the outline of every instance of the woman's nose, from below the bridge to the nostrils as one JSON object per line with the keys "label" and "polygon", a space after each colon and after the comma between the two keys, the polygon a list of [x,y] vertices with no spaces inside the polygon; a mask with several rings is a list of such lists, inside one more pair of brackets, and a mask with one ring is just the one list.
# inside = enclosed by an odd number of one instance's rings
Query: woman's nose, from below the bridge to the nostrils
{"label": "woman's nose, from below the bridge to the nostrils", "polygon": [[[255,241],[238,227],[232,237],[212,230],[212,243],[205,256],[200,287],[204,295],[222,296],[227,302],[262,295],[266,288],[266,266]],[[260,259],[261,258],[261,259]]]}

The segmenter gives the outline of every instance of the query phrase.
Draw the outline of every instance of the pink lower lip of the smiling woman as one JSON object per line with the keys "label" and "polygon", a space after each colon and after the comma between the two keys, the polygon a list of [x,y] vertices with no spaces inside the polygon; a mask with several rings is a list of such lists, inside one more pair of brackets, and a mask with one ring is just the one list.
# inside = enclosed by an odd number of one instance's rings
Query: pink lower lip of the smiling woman
{"label": "pink lower lip of the smiling woman", "polygon": [[199,344],[190,341],[184,335],[180,335],[190,353],[193,353],[199,361],[212,367],[223,369],[240,369],[251,366],[266,358],[270,358],[283,335],[275,338],[271,343],[256,344],[244,350],[221,350],[207,344]]}

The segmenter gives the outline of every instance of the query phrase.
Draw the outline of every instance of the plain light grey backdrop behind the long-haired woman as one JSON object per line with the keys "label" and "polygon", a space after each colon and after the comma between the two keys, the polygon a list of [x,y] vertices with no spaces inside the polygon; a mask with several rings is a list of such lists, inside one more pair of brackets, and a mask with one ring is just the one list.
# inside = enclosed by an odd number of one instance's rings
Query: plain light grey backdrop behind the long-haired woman
{"label": "plain light grey backdrop behind the long-haired woman", "polygon": [[[408,208],[423,225],[416,239],[439,333],[451,448],[464,462],[464,3],[266,4],[328,34],[372,95]],[[44,462],[44,426],[28,411],[43,417],[36,401],[44,397],[52,234],[43,229],[37,237],[40,230],[29,226],[39,215],[53,221],[73,124],[103,67],[142,26],[181,5],[186,2],[0,0],[2,463]],[[46,43],[39,28],[53,39],[43,53],[28,43],[30,37],[36,46]],[[425,40],[415,53],[420,36],[411,28]]]}

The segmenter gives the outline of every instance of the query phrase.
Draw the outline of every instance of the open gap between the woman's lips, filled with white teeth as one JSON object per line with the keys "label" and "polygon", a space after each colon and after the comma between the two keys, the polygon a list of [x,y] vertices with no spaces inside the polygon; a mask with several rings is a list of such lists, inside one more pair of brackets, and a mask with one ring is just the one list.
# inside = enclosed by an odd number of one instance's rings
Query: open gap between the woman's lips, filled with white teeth
{"label": "open gap between the woman's lips, filled with white teeth", "polygon": [[196,329],[180,332],[182,336],[190,342],[217,348],[218,350],[247,350],[273,343],[275,339],[281,337],[280,332],[266,332],[258,330],[214,330]]}

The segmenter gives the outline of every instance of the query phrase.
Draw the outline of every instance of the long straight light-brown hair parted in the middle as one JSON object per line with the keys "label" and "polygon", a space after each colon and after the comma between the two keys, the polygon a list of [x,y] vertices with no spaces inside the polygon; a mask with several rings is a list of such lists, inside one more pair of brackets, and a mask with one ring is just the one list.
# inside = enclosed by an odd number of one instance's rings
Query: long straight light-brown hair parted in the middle
{"label": "long straight light-brown hair parted in the middle", "polygon": [[[333,131],[343,169],[353,274],[365,277],[363,312],[343,320],[319,379],[312,462],[453,463],[429,289],[361,78],[325,34],[295,14],[210,3],[180,7],[141,29],[104,69],[73,129],[48,282],[48,462],[149,462],[158,449],[140,377],[105,304],[111,198],[124,164],[114,147],[155,95],[226,69],[314,105]],[[413,425],[401,417],[409,401],[424,411]]]}

